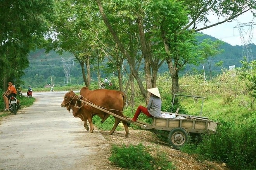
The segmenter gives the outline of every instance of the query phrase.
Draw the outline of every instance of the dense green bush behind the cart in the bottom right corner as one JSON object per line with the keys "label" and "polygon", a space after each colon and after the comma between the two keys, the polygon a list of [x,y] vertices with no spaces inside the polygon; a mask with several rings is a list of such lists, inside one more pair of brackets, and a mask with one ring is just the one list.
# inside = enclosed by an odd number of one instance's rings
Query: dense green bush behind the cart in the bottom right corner
{"label": "dense green bush behind the cart in the bottom right corner", "polygon": [[195,147],[189,144],[181,150],[187,153],[199,153],[204,159],[227,163],[231,169],[256,169],[256,113],[246,123],[234,123],[219,120],[215,134],[204,135],[201,143]]}

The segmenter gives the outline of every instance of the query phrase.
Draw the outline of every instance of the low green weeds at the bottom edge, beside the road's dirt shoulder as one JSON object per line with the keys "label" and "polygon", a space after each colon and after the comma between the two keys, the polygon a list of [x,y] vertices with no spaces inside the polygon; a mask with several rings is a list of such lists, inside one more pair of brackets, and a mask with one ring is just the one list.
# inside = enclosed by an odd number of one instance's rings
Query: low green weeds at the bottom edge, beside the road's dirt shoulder
{"label": "low green weeds at the bottom edge, beside the road's dirt shoulder", "polygon": [[172,170],[175,167],[168,161],[166,153],[157,151],[153,157],[150,155],[150,149],[139,145],[125,145],[119,147],[113,145],[112,155],[109,160],[121,168],[130,170]]}

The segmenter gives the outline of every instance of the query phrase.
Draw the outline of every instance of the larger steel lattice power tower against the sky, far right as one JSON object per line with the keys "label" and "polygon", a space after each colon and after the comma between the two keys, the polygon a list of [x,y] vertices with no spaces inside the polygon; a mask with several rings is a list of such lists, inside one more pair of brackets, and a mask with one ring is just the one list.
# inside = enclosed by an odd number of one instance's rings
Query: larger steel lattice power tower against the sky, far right
{"label": "larger steel lattice power tower against the sky, far right", "polygon": [[[253,39],[253,26],[256,25],[254,22],[247,22],[244,24],[238,24],[234,28],[239,28],[240,39],[243,45],[243,54],[242,58],[246,57],[246,61],[253,61],[253,52],[252,52],[252,39]],[[249,27],[247,30],[244,27]]]}

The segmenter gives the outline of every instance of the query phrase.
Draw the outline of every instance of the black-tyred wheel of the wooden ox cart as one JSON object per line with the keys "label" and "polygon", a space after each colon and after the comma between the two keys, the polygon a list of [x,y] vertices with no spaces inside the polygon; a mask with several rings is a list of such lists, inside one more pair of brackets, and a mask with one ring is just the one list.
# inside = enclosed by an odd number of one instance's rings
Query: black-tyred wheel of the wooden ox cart
{"label": "black-tyred wheel of the wooden ox cart", "polygon": [[168,140],[174,149],[180,149],[190,140],[190,134],[184,128],[174,128],[170,131]]}

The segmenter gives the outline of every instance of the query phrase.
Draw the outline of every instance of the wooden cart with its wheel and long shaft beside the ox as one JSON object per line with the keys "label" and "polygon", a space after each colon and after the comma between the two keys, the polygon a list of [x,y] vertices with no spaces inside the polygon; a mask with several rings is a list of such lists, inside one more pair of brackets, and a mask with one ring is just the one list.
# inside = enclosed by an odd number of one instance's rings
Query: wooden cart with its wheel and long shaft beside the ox
{"label": "wooden cart with its wheel and long shaft beside the ox", "polygon": [[[127,119],[128,117],[126,118],[116,115],[97,105],[82,100],[82,98],[83,97],[81,95],[78,95],[77,100],[79,100],[83,104],[90,105],[91,107],[106,112],[107,114],[118,117],[121,120],[135,124],[139,126],[141,129],[150,130],[154,133],[167,136],[168,142],[175,149],[179,149],[181,146],[185,145],[190,140],[190,134],[211,134],[215,133],[217,129],[217,123],[209,120],[207,117],[178,114],[179,108],[176,110],[175,113],[162,112],[165,114],[170,114],[172,116],[175,115],[175,117],[173,118],[153,117],[152,124],[148,124],[142,121],[133,122]],[[164,133],[163,131],[169,131],[169,133],[167,134]]]}

